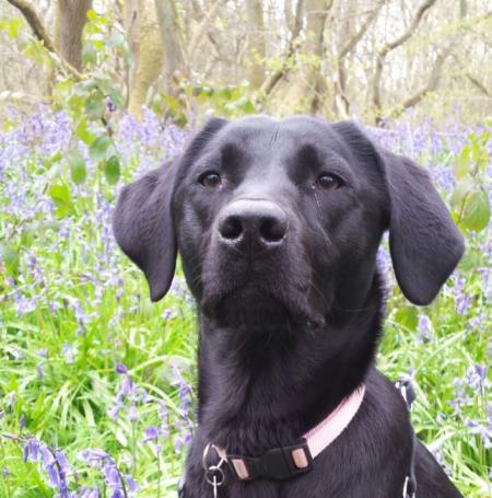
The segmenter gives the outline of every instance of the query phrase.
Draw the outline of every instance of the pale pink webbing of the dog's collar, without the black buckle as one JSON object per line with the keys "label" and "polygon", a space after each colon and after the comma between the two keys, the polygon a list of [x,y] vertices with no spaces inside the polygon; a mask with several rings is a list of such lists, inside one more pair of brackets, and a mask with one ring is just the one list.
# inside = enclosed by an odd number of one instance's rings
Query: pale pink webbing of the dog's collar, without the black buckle
{"label": "pale pink webbing of the dog's collar, without the black buckle", "polygon": [[[316,427],[303,436],[305,444],[289,449],[295,467],[303,472],[309,467],[309,463],[328,448],[349,426],[364,399],[365,385],[361,384],[349,397],[345,397],[321,420]],[[225,450],[213,447],[222,461],[229,461],[233,466],[237,478],[247,480],[254,476],[248,470],[246,458],[229,455]]]}

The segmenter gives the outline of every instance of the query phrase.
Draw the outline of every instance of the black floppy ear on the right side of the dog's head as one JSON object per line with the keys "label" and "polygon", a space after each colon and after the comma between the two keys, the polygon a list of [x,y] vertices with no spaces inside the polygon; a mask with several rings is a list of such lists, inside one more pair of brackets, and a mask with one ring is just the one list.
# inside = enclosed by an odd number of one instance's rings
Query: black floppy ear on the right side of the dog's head
{"label": "black floppy ear on the right side of the dog's head", "polygon": [[462,235],[431,183],[407,158],[380,151],[389,194],[389,250],[403,294],[429,304],[462,256]]}

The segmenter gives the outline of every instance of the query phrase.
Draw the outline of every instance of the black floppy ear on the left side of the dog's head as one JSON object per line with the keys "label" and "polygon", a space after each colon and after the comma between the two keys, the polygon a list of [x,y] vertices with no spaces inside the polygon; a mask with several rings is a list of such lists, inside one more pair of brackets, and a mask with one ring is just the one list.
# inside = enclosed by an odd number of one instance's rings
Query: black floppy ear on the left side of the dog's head
{"label": "black floppy ear on the left side of the dog's head", "polygon": [[165,296],[176,265],[171,198],[178,161],[169,161],[124,187],[113,219],[116,241],[144,273],[152,301]]}

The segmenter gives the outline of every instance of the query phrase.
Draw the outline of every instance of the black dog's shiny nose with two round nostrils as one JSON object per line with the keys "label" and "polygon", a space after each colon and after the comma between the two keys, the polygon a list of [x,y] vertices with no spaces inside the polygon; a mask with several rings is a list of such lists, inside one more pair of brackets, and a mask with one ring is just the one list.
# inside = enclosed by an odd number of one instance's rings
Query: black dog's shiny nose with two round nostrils
{"label": "black dog's shiny nose with two round nostrils", "polygon": [[288,216],[276,202],[238,199],[221,213],[219,233],[223,242],[268,248],[281,245],[288,232]]}

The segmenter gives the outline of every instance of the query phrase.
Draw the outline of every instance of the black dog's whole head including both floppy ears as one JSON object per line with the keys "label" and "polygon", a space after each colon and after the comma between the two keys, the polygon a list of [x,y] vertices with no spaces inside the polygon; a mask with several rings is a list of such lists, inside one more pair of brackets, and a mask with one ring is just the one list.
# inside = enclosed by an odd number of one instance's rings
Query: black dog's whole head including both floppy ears
{"label": "black dog's whole head including both floppy ears", "polygon": [[124,188],[114,230],[153,301],[179,251],[208,316],[262,326],[363,305],[385,230],[417,304],[435,298],[464,251],[423,170],[353,123],[302,116],[210,120],[181,157]]}

